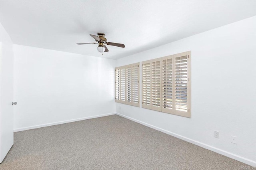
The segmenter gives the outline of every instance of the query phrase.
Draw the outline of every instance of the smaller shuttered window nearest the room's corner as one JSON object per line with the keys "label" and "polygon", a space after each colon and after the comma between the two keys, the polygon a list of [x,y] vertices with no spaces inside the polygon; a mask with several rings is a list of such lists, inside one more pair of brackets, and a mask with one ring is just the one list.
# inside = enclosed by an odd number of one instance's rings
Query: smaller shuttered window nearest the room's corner
{"label": "smaller shuttered window nearest the room's corner", "polygon": [[140,63],[116,67],[116,102],[140,107]]}

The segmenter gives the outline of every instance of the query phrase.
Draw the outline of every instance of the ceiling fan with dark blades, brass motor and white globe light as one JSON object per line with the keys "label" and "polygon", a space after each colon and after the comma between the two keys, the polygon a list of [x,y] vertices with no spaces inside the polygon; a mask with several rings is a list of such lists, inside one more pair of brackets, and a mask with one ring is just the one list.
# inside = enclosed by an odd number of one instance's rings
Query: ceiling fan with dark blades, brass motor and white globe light
{"label": "ceiling fan with dark blades, brass motor and white globe light", "polygon": [[[104,44],[107,44],[107,45],[113,45],[113,46],[116,46],[116,47],[122,47],[124,48],[124,44],[122,43],[112,43],[112,42],[107,42],[107,39],[105,38],[105,34],[104,33],[98,33],[97,34],[98,36],[94,36],[92,34],[90,34],[90,36],[92,36],[92,38],[95,39],[96,43],[98,43],[98,47],[97,47],[97,50],[102,53],[105,53],[105,52],[108,52],[108,48],[106,47],[106,45]],[[78,45],[83,45],[83,44],[91,44],[91,43],[77,43]],[[95,43],[93,43],[95,44]]]}

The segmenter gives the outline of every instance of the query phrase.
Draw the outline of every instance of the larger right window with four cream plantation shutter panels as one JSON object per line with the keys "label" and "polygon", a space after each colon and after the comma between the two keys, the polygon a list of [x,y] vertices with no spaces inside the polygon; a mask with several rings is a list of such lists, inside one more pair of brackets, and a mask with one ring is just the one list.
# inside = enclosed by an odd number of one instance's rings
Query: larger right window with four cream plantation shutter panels
{"label": "larger right window with four cream plantation shutter panels", "polygon": [[191,117],[190,53],[142,62],[143,108]]}

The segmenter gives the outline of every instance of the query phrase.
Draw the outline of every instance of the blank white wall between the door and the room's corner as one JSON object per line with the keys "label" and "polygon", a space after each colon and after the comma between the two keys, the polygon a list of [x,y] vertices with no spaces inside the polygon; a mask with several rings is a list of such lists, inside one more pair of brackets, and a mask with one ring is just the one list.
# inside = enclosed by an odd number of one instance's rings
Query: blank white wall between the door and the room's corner
{"label": "blank white wall between the door and the room's corner", "polygon": [[115,63],[14,45],[14,130],[114,113]]}

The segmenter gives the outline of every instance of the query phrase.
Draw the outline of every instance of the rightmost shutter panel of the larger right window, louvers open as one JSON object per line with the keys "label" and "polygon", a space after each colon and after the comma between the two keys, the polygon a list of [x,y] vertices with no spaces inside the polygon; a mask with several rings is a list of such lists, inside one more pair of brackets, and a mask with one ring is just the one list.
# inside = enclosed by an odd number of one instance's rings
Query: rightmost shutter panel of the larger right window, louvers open
{"label": "rightmost shutter panel of the larger right window, louvers open", "polygon": [[188,94],[190,90],[189,85],[189,54],[190,52],[184,52],[174,55],[175,60],[175,77],[174,77],[174,88],[175,88],[175,115],[190,117],[189,99]]}

